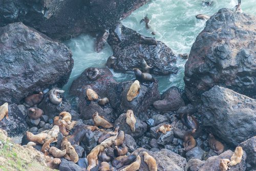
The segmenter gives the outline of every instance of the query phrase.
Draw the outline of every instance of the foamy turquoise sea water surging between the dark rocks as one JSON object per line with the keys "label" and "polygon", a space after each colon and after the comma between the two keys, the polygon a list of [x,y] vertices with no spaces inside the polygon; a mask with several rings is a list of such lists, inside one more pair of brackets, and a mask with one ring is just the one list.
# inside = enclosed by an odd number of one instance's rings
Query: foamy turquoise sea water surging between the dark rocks
{"label": "foamy turquoise sea water surging between the dark rocks", "polygon": [[[189,53],[197,35],[204,29],[205,21],[196,19],[197,14],[212,15],[221,8],[234,9],[236,0],[214,0],[212,5],[207,7],[202,5],[202,1],[185,0],[155,0],[134,11],[129,17],[122,20],[122,24],[145,36],[153,36],[151,32],[140,24],[140,20],[147,15],[150,18],[149,25],[152,31],[156,32],[155,38],[163,41],[176,54]],[[243,1],[243,12],[255,15],[256,0]],[[82,34],[72,38],[65,44],[72,50],[74,68],[69,82],[63,88],[69,89],[72,81],[77,78],[84,69],[88,67],[103,67],[106,59],[113,54],[109,45],[105,45],[100,53],[94,51],[95,38]],[[169,87],[176,86],[184,88],[184,65],[186,60],[177,60],[179,72],[177,75],[157,76],[159,80],[159,91],[162,93]],[[112,71],[113,72],[113,71]],[[123,74],[113,72],[117,81],[134,79],[133,74]]]}

